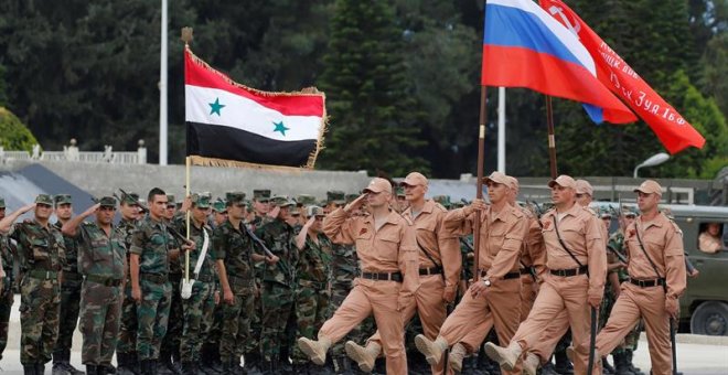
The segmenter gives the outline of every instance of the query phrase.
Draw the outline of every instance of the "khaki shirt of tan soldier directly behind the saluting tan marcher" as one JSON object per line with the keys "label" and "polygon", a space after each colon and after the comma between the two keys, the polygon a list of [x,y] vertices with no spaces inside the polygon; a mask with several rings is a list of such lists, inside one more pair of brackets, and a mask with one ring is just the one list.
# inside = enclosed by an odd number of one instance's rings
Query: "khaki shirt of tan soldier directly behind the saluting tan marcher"
{"label": "khaki shirt of tan soldier directly behind the saluting tan marcher", "polygon": [[[450,235],[442,225],[442,219],[448,211],[432,200],[425,202],[425,206],[417,217],[413,217],[411,210],[411,206],[408,207],[402,215],[415,225],[419,244],[419,266],[421,268],[442,266],[446,287],[454,289],[460,280],[462,254],[458,237]],[[429,257],[424,251],[427,251]],[[437,265],[432,264],[430,258]]]}

